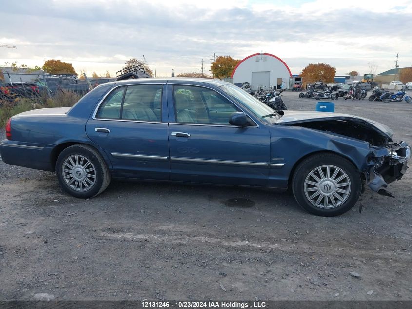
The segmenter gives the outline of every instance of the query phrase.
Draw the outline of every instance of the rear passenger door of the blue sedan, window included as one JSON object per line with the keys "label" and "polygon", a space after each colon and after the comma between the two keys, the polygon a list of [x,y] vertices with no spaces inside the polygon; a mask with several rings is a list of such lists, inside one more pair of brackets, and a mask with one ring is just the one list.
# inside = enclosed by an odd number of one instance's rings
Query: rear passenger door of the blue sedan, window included
{"label": "rear passenger door of the blue sedan, window included", "polygon": [[[86,124],[88,137],[110,158],[115,177],[169,179],[167,114],[161,84],[120,86]],[[166,100],[164,100],[166,101]]]}

